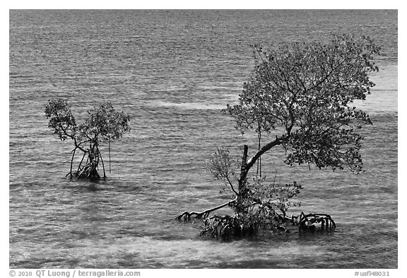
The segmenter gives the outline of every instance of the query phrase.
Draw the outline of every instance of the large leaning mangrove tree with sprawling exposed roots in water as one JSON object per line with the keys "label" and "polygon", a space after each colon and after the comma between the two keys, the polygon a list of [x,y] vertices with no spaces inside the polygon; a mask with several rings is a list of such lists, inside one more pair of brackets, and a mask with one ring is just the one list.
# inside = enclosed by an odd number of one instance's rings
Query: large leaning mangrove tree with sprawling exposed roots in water
{"label": "large leaning mangrove tree with sprawling exposed roots in water", "polygon": [[[288,216],[288,208],[297,204],[291,198],[301,186],[268,182],[261,175],[261,156],[282,148],[288,166],[360,173],[358,130],[372,122],[353,101],[365,100],[374,86],[370,74],[379,70],[373,62],[379,47],[370,37],[333,35],[329,42],[293,42],[268,51],[253,45],[253,50],[254,69],[239,102],[224,112],[235,119],[240,132],[256,132],[256,149],[249,151],[244,145],[237,161],[228,149],[218,148],[209,158],[209,168],[234,197],[204,212],[184,212],[177,219],[203,217],[203,233],[215,236],[252,233],[259,226],[284,230],[288,222],[334,228],[327,214]],[[232,216],[210,215],[226,206],[233,209]]]}

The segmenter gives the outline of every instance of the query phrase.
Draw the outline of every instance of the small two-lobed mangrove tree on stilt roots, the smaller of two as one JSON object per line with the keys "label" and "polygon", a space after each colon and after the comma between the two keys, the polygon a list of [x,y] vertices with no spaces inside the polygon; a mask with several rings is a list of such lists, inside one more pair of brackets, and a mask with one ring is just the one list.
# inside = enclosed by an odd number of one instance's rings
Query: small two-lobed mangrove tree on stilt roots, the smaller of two
{"label": "small two-lobed mangrove tree on stilt roots, the smaller of two", "polygon": [[[48,100],[45,116],[49,119],[48,127],[61,141],[73,141],[71,167],[66,176],[69,175],[70,179],[100,180],[98,169],[101,163],[105,179],[105,163],[100,153],[100,144],[107,142],[110,154],[110,142],[122,138],[124,132],[130,130],[129,115],[115,111],[111,103],[102,103],[88,110],[88,117],[84,122],[76,124],[66,100],[53,99]],[[81,153],[81,161],[73,168],[78,152]]]}

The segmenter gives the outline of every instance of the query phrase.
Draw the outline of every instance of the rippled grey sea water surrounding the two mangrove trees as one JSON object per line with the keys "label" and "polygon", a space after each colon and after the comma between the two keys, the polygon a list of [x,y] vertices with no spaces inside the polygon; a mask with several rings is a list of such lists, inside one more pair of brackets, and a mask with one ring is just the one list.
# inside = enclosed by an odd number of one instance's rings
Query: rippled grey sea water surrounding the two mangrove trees
{"label": "rippled grey sea water surrounding the two mangrove trees", "polygon": [[[10,11],[10,267],[398,267],[397,28],[397,11],[381,10]],[[216,146],[238,155],[255,144],[220,113],[252,69],[249,45],[332,32],[382,45],[377,86],[357,103],[374,121],[363,131],[366,171],[290,168],[281,151],[264,171],[301,183],[300,209],[331,214],[336,231],[222,242],[201,238],[200,221],[174,221],[228,200],[204,166]],[[78,121],[106,100],[131,115],[98,190],[64,179],[72,143],[44,115],[57,97]]]}

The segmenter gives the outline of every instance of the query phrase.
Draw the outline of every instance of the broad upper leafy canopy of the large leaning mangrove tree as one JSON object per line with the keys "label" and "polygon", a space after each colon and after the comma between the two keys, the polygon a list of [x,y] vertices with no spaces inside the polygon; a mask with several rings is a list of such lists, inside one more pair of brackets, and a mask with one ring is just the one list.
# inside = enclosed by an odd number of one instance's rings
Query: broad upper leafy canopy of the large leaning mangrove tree
{"label": "broad upper leafy canopy of the large leaning mangrove tree", "polygon": [[[379,47],[369,37],[333,35],[329,43],[293,42],[266,52],[253,46],[255,66],[237,105],[227,112],[240,132],[279,132],[285,163],[362,170],[362,137],[369,115],[350,104],[365,100],[378,71]],[[278,140],[278,141],[277,141]]]}

